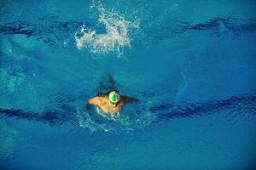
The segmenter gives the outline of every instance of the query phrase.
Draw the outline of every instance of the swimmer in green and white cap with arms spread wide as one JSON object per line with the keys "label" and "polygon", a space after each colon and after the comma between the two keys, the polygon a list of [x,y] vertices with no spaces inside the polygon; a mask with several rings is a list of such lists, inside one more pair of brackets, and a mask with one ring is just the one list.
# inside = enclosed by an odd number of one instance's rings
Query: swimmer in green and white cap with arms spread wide
{"label": "swimmer in green and white cap with arms spread wide", "polygon": [[[120,95],[118,91],[113,90],[108,94],[96,96],[88,100],[89,105],[96,105],[104,114],[117,114],[123,109],[125,104],[136,102],[138,99]],[[87,106],[89,106],[87,105]]]}

